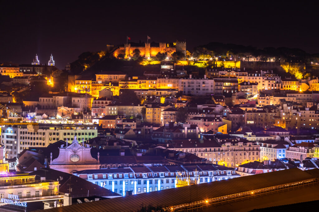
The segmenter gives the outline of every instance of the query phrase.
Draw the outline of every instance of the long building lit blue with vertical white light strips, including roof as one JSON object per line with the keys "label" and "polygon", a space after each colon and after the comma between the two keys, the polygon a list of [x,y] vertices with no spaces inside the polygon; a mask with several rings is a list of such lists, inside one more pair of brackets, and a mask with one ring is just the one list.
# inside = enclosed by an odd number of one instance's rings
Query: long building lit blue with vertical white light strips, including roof
{"label": "long building lit blue with vertical white light strips, including roof", "polygon": [[190,180],[196,178],[198,183],[227,180],[240,176],[234,169],[218,165],[131,166],[127,168],[84,170],[73,174],[123,196],[126,195],[127,191],[132,191],[132,194],[142,194],[176,188],[176,176],[179,176],[179,174],[189,177]]}

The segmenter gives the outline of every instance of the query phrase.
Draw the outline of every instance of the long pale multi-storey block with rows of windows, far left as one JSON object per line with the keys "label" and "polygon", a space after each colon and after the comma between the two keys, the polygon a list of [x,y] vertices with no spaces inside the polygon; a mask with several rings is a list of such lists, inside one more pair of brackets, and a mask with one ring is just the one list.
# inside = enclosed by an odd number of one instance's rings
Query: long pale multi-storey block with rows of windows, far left
{"label": "long pale multi-storey block with rows of windows, far left", "polygon": [[6,158],[17,157],[22,150],[46,147],[59,140],[71,140],[76,135],[81,141],[97,136],[97,125],[39,124],[6,125],[1,128],[1,145],[6,147]]}

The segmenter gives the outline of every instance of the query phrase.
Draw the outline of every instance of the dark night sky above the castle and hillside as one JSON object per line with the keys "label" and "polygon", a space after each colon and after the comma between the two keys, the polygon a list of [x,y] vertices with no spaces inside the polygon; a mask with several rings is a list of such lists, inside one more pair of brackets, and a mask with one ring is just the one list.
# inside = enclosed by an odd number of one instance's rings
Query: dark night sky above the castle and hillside
{"label": "dark night sky above the castle and hillside", "polygon": [[[58,68],[86,51],[131,41],[186,40],[258,48],[286,46],[318,53],[318,15],[311,3],[278,1],[6,1],[0,8],[0,62],[41,63],[53,54]],[[12,3],[8,3],[12,2]]]}

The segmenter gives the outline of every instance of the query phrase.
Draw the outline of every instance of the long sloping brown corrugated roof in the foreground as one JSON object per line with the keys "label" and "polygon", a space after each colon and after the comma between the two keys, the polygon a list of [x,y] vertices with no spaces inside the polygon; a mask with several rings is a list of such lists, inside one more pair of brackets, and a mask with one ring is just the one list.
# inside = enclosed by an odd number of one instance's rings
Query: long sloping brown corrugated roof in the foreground
{"label": "long sloping brown corrugated roof in the foreground", "polygon": [[286,169],[271,173],[256,174],[229,180],[214,181],[198,185],[172,188],[162,191],[38,211],[137,211],[139,208],[141,208],[141,205],[170,207],[189,203],[190,201],[203,201],[208,198],[247,192],[260,188],[272,187],[313,178],[315,178],[314,175],[301,171],[298,168]]}

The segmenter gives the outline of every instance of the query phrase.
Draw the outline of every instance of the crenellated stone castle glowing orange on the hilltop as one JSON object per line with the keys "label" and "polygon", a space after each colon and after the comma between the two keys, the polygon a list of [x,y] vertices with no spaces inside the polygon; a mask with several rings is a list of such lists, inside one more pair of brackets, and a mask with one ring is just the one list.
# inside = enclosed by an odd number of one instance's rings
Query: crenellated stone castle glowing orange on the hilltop
{"label": "crenellated stone castle glowing orange on the hilltop", "polygon": [[171,44],[159,43],[158,45],[152,45],[150,43],[145,43],[145,46],[131,46],[130,43],[120,46],[114,51],[114,56],[117,57],[119,51],[125,50],[125,58],[133,56],[133,50],[138,49],[141,52],[141,57],[155,57],[159,52],[167,52],[168,55],[174,52],[182,52],[186,55],[186,42],[176,42]]}

